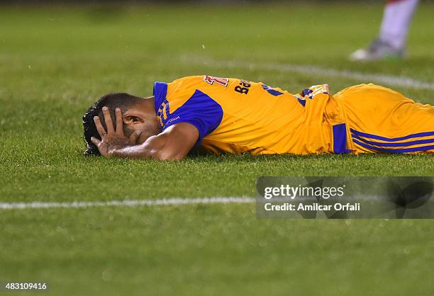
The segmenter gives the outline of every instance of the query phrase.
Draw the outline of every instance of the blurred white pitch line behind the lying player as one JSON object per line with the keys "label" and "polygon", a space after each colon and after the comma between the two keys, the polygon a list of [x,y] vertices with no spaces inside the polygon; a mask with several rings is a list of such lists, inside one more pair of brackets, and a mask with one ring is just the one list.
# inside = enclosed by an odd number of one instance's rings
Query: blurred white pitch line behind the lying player
{"label": "blurred white pitch line behind the lying player", "polygon": [[[196,57],[182,57],[184,62],[194,62],[196,64],[206,64],[212,67],[225,67],[225,68],[247,68],[250,70],[264,69],[264,70],[277,70],[281,72],[293,72],[304,75],[323,75],[330,77],[349,78],[359,82],[376,82],[378,84],[386,84],[389,86],[401,86],[412,89],[431,89],[434,90],[434,83],[427,81],[420,81],[411,79],[406,76],[393,76],[386,74],[374,74],[374,73],[362,73],[350,70],[337,70],[332,68],[322,68],[308,65],[297,64],[276,64],[276,63],[247,63],[239,61],[225,61],[225,60],[213,60],[213,59],[198,59]],[[321,81],[320,81],[321,82]]]}

